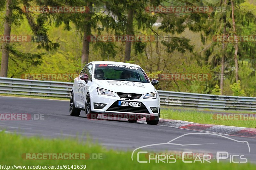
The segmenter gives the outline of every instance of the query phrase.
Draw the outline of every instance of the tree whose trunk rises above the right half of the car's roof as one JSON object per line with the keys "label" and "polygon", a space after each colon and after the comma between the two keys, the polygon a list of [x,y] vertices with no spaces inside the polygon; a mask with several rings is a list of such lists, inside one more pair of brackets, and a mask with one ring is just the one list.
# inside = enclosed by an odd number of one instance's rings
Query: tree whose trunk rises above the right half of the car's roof
{"label": "tree whose trunk rises above the right half of the car's roof", "polygon": [[[116,27],[116,31],[123,35],[134,35],[134,32],[138,32],[138,30],[145,30],[146,28],[152,28],[153,24],[157,20],[157,16],[152,16],[150,12],[145,11],[148,6],[158,6],[160,1],[158,0],[139,0],[139,1],[106,1],[106,7],[108,11],[111,11],[114,14],[114,18],[116,19],[118,26]],[[141,31],[140,30],[140,31]],[[131,60],[131,49],[132,42],[125,42],[124,49],[124,59],[123,61]],[[135,51],[138,49],[140,53],[143,52],[141,48],[142,42],[134,42]],[[145,46],[144,46],[145,47]],[[137,51],[138,52],[138,51]]]}

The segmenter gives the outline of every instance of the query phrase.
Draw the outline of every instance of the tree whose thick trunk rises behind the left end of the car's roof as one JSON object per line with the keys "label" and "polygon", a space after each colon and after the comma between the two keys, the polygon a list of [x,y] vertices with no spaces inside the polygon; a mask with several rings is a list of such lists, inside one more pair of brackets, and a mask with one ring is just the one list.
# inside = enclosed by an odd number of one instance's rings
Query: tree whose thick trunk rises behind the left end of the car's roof
{"label": "tree whose thick trunk rises behind the left end of the car's roof", "polygon": [[[81,32],[82,34],[82,55],[81,55],[81,66],[84,67],[86,63],[90,61],[90,36],[92,32],[96,31],[99,35],[104,30],[108,30],[111,28],[115,30],[116,22],[115,19],[110,15],[110,11],[100,11],[100,7],[103,7],[105,1],[96,0],[96,1],[87,1],[84,0],[74,0],[74,1],[65,1],[60,0],[58,2],[55,1],[47,1],[43,2],[41,5],[44,6],[84,6],[86,7],[85,12],[78,13],[51,13],[51,17],[53,18],[53,22],[56,27],[59,27],[62,23],[65,25],[66,30],[71,30],[70,23],[74,23],[76,26],[76,30]],[[95,7],[95,8],[93,8]],[[97,10],[99,11],[93,11]],[[90,11],[89,11],[90,9]],[[113,57],[116,55],[115,45],[111,42],[102,43],[97,42],[93,45],[94,50],[99,50],[101,56],[106,58],[107,56]]]}

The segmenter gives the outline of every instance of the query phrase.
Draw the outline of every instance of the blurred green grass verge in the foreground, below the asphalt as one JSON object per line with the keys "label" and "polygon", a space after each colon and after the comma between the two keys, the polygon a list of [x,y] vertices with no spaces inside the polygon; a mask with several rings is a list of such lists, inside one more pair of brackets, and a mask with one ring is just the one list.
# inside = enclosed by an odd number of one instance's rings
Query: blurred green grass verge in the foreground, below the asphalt
{"label": "blurred green grass verge in the foreground, below the asphalt", "polygon": [[[143,144],[142,144],[143,145]],[[0,132],[0,165],[86,165],[86,169],[255,169],[256,165],[217,163],[138,163],[136,157],[131,159],[131,151],[107,150],[91,142],[81,142],[79,139],[45,139],[38,137],[23,137],[16,134]],[[88,160],[26,160],[23,153],[102,153],[103,159]]]}

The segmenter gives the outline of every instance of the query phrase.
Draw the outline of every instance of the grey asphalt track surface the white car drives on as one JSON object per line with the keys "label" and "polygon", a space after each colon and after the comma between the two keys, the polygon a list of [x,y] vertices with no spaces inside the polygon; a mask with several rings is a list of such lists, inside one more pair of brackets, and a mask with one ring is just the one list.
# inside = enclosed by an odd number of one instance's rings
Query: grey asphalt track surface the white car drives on
{"label": "grey asphalt track surface the white car drives on", "polygon": [[[188,134],[198,131],[128,121],[90,120],[85,118],[84,111],[81,111],[79,117],[70,116],[68,107],[69,101],[0,96],[0,113],[28,113],[32,118],[34,114],[44,114],[44,120],[0,120],[0,130],[46,138],[79,137],[86,140],[89,136],[106,148],[129,151],[144,145],[162,143],[144,147],[143,150],[192,151],[213,155],[218,151],[226,151],[230,155],[244,155],[244,158],[256,162],[256,138],[223,137],[203,132]],[[184,134],[188,135],[180,137]],[[172,143],[179,145],[164,145],[174,138],[177,139]],[[247,141],[250,152],[246,143],[238,141]]]}

